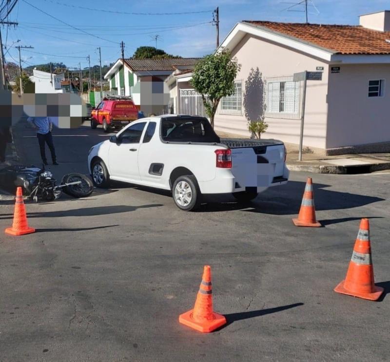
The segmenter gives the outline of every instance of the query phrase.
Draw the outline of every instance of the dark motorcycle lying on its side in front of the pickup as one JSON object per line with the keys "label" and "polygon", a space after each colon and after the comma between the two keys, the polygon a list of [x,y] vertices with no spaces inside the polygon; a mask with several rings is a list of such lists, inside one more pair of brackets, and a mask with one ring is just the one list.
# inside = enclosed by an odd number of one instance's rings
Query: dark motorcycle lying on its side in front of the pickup
{"label": "dark motorcycle lying on its side in front of the pickup", "polygon": [[15,194],[21,186],[23,194],[37,203],[39,200],[57,200],[62,192],[73,197],[87,197],[94,191],[91,179],[81,173],[69,173],[62,177],[60,185],[53,173],[35,166],[10,166],[0,170],[0,188]]}

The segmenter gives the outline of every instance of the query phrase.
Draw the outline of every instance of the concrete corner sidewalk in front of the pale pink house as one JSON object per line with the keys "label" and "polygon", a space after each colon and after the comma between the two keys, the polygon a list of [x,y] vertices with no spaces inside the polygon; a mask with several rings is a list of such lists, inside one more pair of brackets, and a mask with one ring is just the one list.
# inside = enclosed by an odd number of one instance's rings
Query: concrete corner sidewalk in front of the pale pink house
{"label": "concrete corner sidewalk in front of the pale pink house", "polygon": [[[222,138],[247,138],[238,134],[217,132]],[[357,153],[326,156],[308,149],[298,161],[298,145],[285,143],[287,167],[291,171],[356,174],[390,170],[390,153]]]}

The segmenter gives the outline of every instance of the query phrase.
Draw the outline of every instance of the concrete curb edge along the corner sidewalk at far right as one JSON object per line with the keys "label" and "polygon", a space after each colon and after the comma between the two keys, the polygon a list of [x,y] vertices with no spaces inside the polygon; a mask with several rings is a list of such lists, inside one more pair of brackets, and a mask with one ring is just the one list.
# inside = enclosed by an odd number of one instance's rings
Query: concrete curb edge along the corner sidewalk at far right
{"label": "concrete curb edge along the corner sidewalk at far right", "polygon": [[301,165],[286,164],[290,171],[312,172],[312,173],[331,173],[331,174],[358,174],[370,173],[375,171],[390,170],[390,162],[373,163],[366,165],[337,166],[337,165]]}

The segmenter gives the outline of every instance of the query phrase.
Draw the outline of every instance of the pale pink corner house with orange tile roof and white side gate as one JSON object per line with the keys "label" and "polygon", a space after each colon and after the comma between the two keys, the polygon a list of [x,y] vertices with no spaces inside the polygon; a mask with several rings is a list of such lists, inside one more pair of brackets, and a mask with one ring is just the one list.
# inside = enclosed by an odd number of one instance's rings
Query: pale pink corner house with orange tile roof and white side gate
{"label": "pale pink corner house with orange tile roof and white side gate", "polygon": [[[234,95],[219,104],[216,130],[250,136],[248,121],[264,118],[265,138],[298,144],[303,82],[293,75],[321,72],[307,82],[304,146],[390,151],[390,11],[363,15],[358,26],[242,21],[222,47],[241,69]],[[171,86],[180,113],[199,112],[190,80],[177,75]]]}

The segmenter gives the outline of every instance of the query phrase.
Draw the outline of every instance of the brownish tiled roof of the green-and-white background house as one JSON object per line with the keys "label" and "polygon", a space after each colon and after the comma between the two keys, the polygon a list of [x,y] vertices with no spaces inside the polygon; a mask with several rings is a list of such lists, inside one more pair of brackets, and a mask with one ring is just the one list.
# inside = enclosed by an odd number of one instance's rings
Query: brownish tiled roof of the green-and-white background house
{"label": "brownish tiled roof of the green-and-white background house", "polygon": [[177,66],[195,65],[200,58],[169,59],[125,59],[125,63],[134,71],[174,70]]}

